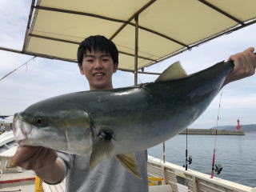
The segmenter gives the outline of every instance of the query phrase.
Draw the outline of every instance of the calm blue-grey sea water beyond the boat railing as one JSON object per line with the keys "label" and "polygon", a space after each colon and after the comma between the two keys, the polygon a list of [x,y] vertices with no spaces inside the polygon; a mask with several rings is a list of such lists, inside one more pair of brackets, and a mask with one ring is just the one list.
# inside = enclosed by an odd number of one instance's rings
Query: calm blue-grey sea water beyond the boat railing
{"label": "calm blue-grey sea water beyond the boat railing", "polygon": [[[210,174],[215,146],[215,164],[221,164],[223,169],[214,176],[256,187],[256,132],[242,136],[189,134],[187,145],[188,154],[193,158],[189,169]],[[162,144],[150,148],[148,154],[162,158]],[[183,166],[185,154],[186,134],[178,134],[166,142],[166,162]]]}

